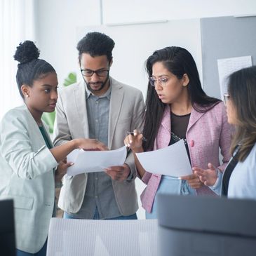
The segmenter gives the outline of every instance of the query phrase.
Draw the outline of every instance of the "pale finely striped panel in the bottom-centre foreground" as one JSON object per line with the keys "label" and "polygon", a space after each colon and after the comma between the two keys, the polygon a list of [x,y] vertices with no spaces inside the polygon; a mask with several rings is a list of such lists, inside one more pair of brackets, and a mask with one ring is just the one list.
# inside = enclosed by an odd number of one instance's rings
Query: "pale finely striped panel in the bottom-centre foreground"
{"label": "pale finely striped panel in the bottom-centre foreground", "polygon": [[159,255],[157,220],[51,218],[47,256]]}

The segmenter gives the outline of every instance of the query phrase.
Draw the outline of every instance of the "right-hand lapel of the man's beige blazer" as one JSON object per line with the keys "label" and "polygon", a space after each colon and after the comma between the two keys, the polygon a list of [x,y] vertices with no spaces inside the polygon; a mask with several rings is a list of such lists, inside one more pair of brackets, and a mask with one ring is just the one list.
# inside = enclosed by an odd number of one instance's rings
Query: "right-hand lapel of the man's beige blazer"
{"label": "right-hand lapel of the man's beige blazer", "polygon": [[116,83],[116,81],[112,78],[110,78],[110,83],[111,83],[112,89],[111,89],[110,107],[109,107],[109,134],[108,134],[109,149],[112,148],[114,130],[116,129],[116,123],[119,119],[121,105],[123,102],[123,87],[119,83]]}

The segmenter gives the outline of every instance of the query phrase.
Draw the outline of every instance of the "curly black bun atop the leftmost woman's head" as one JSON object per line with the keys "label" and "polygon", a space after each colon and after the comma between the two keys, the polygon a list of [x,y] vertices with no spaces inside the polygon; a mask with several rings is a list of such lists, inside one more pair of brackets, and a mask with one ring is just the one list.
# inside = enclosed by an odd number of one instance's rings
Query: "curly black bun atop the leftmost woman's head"
{"label": "curly black bun atop the leftmost woman's head", "polygon": [[14,60],[20,62],[20,64],[25,64],[31,62],[32,60],[38,59],[40,55],[39,49],[35,46],[32,41],[24,41],[17,46],[15,52]]}

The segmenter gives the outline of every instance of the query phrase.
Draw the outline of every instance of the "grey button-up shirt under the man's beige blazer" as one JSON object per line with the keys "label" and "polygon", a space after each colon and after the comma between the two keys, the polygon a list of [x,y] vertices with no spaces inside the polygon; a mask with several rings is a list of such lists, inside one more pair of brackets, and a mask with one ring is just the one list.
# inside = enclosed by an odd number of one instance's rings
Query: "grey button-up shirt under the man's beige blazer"
{"label": "grey button-up shirt under the man's beige blazer", "polygon": [[[88,116],[89,136],[108,144],[109,133],[109,103],[111,86],[104,95],[98,97],[86,87],[86,107]],[[119,217],[121,213],[116,204],[112,179],[106,173],[88,173],[86,194],[81,209],[72,214],[76,218],[93,219],[95,209],[100,219]]]}

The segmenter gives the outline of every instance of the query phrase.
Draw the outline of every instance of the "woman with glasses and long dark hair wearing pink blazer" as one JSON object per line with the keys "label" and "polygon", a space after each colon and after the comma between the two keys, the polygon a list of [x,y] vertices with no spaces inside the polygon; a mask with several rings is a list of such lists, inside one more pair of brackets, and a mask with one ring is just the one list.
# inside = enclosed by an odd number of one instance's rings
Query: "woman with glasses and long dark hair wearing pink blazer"
{"label": "woman with glasses and long dark hair wearing pink blazer", "polygon": [[[223,103],[203,91],[192,55],[181,47],[166,47],[149,56],[146,67],[149,84],[143,135],[135,130],[125,144],[137,153],[183,139],[192,167],[206,167],[211,162],[224,170],[230,158],[231,127]],[[143,136],[147,141],[142,141]],[[138,174],[147,184],[141,196],[147,218],[157,217],[158,193],[214,194],[194,173],[181,179],[154,175],[144,170],[136,155],[135,161]]]}

